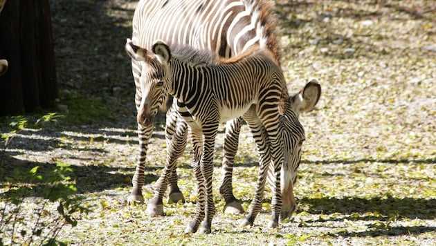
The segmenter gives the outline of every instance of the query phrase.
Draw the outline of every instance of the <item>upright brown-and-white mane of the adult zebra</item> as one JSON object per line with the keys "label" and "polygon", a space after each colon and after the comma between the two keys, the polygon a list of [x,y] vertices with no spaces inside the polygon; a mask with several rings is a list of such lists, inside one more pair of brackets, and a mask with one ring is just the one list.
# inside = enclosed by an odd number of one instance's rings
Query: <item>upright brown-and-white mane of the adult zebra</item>
{"label": "upright brown-and-white mane of the adult zebra", "polygon": [[[280,62],[280,42],[278,41],[278,17],[273,10],[274,2],[269,0],[243,0],[247,10],[250,10],[252,23],[257,23],[256,32],[260,37],[260,47],[267,48]],[[260,24],[260,25],[259,25]]]}

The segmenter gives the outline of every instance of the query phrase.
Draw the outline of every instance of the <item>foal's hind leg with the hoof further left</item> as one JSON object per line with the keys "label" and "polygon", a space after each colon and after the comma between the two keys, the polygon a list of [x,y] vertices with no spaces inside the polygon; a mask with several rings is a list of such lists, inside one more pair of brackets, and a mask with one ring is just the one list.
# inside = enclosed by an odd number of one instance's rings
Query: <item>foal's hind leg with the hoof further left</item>
{"label": "foal's hind leg with the hoof further left", "polygon": [[257,214],[262,210],[262,200],[264,198],[264,190],[266,183],[266,176],[268,173],[268,167],[271,162],[271,149],[269,148],[269,139],[266,135],[266,131],[262,122],[255,114],[253,107],[244,114],[244,120],[246,120],[250,127],[251,133],[257,146],[257,153],[259,155],[259,174],[256,182],[255,197],[251,202],[251,209],[248,211],[248,215],[242,221],[241,226],[253,225]]}

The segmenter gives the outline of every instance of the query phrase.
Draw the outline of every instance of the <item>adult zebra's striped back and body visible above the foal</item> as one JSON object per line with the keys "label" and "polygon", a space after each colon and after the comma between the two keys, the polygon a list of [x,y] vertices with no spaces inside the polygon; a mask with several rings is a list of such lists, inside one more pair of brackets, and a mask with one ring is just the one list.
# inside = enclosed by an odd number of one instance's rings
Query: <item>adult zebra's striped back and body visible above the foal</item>
{"label": "adult zebra's striped back and body visible above the foal", "polygon": [[259,45],[280,61],[273,3],[265,0],[141,0],[133,20],[134,44],[151,48],[158,39],[233,57]]}

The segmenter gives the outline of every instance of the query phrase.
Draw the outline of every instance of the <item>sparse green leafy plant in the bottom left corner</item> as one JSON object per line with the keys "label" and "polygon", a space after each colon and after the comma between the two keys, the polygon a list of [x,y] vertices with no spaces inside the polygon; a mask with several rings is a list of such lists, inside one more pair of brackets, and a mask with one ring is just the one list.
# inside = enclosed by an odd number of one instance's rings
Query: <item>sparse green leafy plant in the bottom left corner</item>
{"label": "sparse green leafy plant in the bottom left corner", "polygon": [[[78,225],[75,216],[89,212],[82,205],[83,197],[76,194],[75,181],[69,176],[72,172],[70,165],[62,162],[57,162],[45,173],[39,171],[39,166],[24,176],[16,172],[15,182],[10,180],[8,183],[7,198],[1,202],[0,245],[63,245],[56,240],[62,228],[65,225],[75,227]],[[28,206],[26,196],[39,192],[43,200],[33,213],[22,212],[23,206]]]}

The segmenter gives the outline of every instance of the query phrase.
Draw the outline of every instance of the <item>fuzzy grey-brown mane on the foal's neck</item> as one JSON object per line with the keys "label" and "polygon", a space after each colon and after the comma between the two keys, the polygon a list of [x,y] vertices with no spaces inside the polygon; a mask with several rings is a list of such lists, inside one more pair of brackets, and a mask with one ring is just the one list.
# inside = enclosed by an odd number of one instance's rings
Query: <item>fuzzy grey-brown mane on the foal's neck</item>
{"label": "fuzzy grey-brown mane on the foal's neck", "polygon": [[172,56],[190,64],[214,65],[219,62],[218,57],[210,50],[201,50],[185,45],[172,45],[170,49]]}

